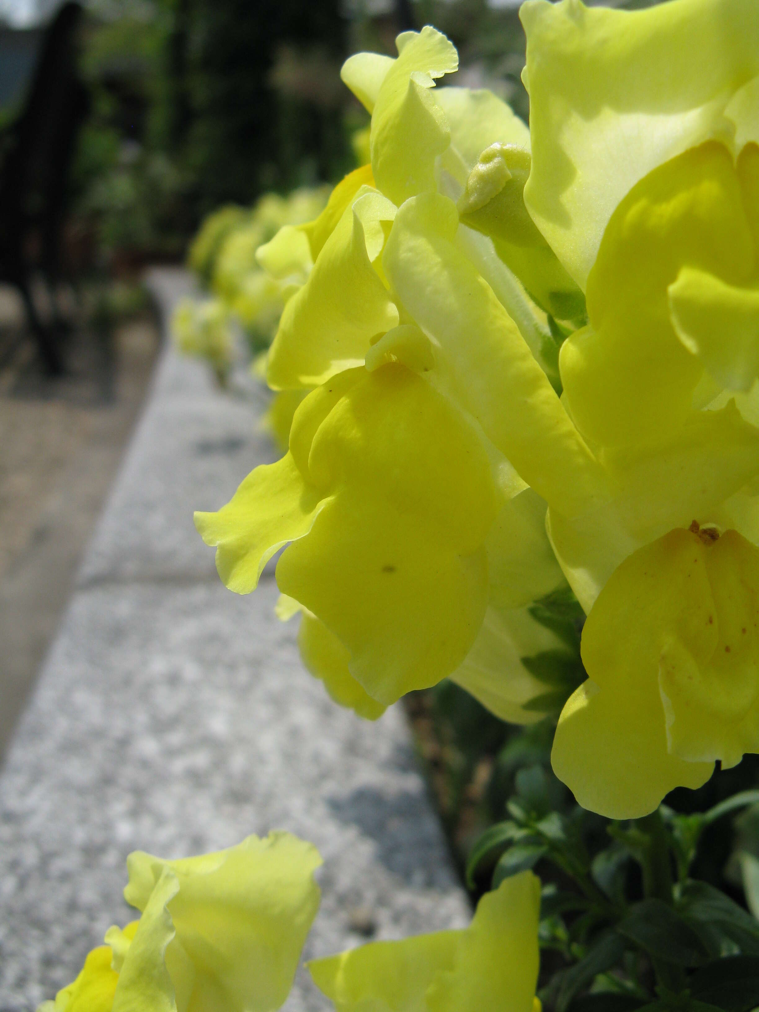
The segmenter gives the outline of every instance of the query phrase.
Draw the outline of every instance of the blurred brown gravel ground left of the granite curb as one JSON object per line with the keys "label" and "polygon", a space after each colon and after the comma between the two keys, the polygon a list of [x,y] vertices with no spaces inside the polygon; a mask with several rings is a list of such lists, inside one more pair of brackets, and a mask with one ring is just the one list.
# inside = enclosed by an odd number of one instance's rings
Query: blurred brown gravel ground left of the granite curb
{"label": "blurred brown gravel ground left of the granite curb", "polygon": [[0,288],[0,758],[71,595],[145,399],[150,316],[111,347],[76,332],[66,375],[40,370],[13,292]]}

